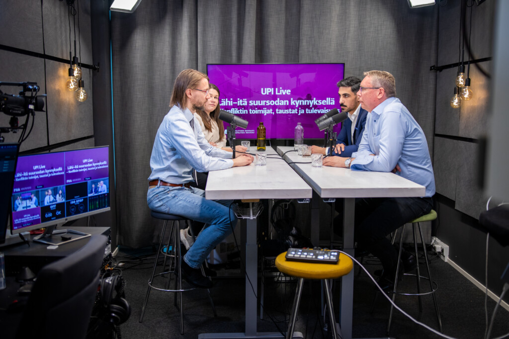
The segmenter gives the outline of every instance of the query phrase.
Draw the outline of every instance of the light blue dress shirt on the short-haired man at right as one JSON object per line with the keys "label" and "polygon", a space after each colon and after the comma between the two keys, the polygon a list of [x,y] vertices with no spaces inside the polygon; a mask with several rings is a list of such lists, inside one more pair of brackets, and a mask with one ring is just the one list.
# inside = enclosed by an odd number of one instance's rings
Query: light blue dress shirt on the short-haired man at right
{"label": "light blue dress shirt on the short-haired man at right", "polygon": [[400,165],[397,175],[425,186],[426,197],[435,194],[426,137],[397,98],[388,98],[367,115],[362,141],[352,157],[350,168],[355,171],[390,172]]}

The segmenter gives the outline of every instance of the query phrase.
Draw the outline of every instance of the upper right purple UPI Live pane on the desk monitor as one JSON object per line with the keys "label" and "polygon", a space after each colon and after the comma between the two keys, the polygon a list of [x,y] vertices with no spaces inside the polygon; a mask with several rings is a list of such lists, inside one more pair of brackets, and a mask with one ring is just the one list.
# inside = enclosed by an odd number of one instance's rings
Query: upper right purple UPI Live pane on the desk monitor
{"label": "upper right purple UPI Live pane on the desk monitor", "polygon": [[[92,149],[81,149],[72,152],[66,152],[65,156],[66,163],[66,176],[65,183],[77,183],[86,181],[85,178],[100,179],[108,177],[108,148],[92,148]],[[83,162],[83,161],[86,162]],[[90,160],[90,162],[87,162]],[[102,168],[94,169],[94,166],[81,167],[89,168],[88,170],[81,171],[80,166],[87,164],[99,164],[103,163]],[[75,171],[71,173],[71,171]]]}

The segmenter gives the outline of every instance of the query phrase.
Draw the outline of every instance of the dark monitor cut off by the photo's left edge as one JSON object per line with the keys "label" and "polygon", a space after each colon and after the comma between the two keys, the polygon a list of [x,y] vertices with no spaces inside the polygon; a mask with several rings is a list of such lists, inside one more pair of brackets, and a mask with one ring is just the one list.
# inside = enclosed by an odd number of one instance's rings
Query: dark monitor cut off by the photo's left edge
{"label": "dark monitor cut off by the photo's left edge", "polygon": [[19,144],[0,143],[0,244],[5,242]]}

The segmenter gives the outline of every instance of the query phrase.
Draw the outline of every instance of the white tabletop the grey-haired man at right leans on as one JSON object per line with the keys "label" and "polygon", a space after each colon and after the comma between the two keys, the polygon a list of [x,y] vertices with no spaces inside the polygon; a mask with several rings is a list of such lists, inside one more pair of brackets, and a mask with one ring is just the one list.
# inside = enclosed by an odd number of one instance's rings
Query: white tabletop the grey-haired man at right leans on
{"label": "white tabletop the grey-haired man at right leans on", "polygon": [[[277,152],[293,150],[293,147],[278,146]],[[302,178],[322,198],[375,198],[375,197],[423,197],[426,188],[393,173],[352,171],[349,168],[323,166],[312,168],[310,158],[302,158],[297,152],[288,152],[289,162],[299,168]]]}

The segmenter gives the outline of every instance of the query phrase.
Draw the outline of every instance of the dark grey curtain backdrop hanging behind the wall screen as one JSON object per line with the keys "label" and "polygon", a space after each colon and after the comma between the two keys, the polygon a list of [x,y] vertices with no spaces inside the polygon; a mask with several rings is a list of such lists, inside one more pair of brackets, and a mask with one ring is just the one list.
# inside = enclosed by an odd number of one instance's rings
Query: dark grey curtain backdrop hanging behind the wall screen
{"label": "dark grey curtain backdrop hanging behind the wall screen", "polygon": [[433,154],[437,6],[406,0],[142,1],[111,13],[119,244],[152,244],[147,177],[172,86],[208,63],[345,63],[345,76],[385,70]]}

